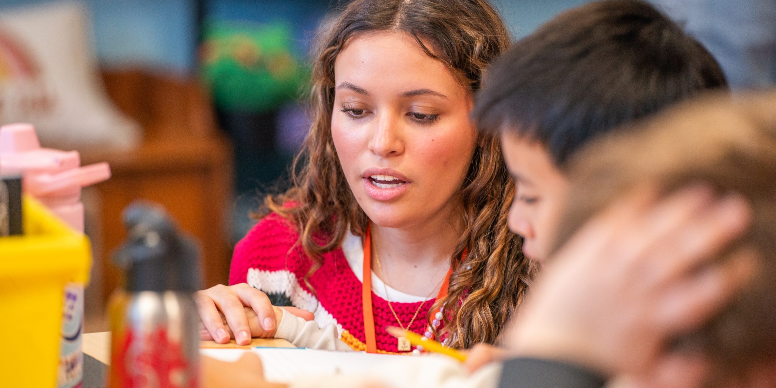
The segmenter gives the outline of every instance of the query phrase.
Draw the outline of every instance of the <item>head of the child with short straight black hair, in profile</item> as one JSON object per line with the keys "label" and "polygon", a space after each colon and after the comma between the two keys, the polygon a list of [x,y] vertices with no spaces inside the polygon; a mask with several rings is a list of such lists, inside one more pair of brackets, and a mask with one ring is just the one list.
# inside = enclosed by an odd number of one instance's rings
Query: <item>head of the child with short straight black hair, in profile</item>
{"label": "head of the child with short straight black hair, in profile", "polygon": [[501,133],[517,192],[509,224],[525,254],[546,257],[566,197],[567,161],[594,138],[706,89],[725,88],[700,43],[646,2],[563,12],[488,70],[473,116]]}

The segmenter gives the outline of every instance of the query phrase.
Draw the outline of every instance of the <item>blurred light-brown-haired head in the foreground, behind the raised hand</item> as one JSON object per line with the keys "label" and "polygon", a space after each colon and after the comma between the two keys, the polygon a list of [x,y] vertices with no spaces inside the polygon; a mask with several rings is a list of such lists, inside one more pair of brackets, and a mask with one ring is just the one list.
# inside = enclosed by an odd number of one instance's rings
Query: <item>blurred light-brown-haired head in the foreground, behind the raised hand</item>
{"label": "blurred light-brown-haired head in the foreground, behind the raised hand", "polygon": [[703,182],[746,198],[752,208],[750,230],[719,260],[753,248],[760,258],[757,275],[729,307],[677,345],[708,357],[711,386],[742,383],[743,377],[776,381],[776,93],[678,107],[586,148],[574,158],[569,176],[570,196],[556,247],[645,182],[663,194]]}

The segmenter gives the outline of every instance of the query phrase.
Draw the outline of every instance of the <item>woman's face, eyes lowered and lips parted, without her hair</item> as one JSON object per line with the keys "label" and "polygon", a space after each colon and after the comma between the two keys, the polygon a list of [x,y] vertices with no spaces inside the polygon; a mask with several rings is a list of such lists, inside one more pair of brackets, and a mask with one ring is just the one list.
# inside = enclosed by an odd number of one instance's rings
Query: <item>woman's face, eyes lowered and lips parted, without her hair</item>
{"label": "woman's face, eyes lowered and lips parted, without her hair", "polygon": [[448,217],[476,145],[469,91],[393,32],[349,40],[334,81],[331,135],[366,215],[396,228]]}

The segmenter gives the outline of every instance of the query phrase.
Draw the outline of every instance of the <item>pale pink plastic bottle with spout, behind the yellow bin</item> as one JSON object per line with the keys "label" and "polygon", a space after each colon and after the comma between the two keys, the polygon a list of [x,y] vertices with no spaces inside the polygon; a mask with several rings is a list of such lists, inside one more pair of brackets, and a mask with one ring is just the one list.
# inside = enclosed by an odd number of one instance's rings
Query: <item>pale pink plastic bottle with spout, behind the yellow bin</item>
{"label": "pale pink plastic bottle with spout, behind the yellow bin", "polygon": [[81,188],[110,178],[110,167],[107,163],[81,167],[78,151],[41,148],[35,128],[17,123],[0,126],[0,174],[9,173],[21,173],[26,194],[83,233]]}

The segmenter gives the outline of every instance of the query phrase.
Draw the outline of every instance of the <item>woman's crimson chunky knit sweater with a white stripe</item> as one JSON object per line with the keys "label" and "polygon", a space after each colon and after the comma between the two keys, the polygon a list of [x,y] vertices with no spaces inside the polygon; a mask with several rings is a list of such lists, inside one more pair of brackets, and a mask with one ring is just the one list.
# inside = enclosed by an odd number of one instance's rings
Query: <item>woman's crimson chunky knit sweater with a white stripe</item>
{"label": "woman's crimson chunky knit sweater with a white stripe", "polygon": [[[299,234],[293,223],[272,213],[256,224],[237,244],[230,270],[230,284],[247,282],[261,289],[277,306],[294,306],[314,312],[320,327],[334,324],[340,339],[356,350],[365,348],[362,282],[348,265],[341,248],[323,256],[323,265],[310,275],[313,289],[304,276],[313,262],[296,242]],[[417,314],[411,330],[424,333],[428,327],[428,300]],[[402,324],[407,324],[420,306],[418,303],[391,302]],[[388,303],[372,292],[377,348],[397,352],[397,340],[386,332],[398,326]]]}

